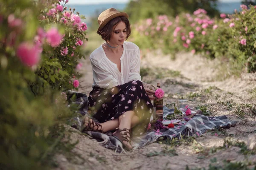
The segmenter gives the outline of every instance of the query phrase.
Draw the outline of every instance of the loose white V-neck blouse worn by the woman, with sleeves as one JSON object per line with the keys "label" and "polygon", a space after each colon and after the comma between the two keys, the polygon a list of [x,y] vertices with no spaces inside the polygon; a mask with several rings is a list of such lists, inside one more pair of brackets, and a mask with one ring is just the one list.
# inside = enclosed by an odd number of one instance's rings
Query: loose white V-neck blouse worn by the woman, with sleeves
{"label": "loose white V-neck blouse worn by the woman, with sleeves", "polygon": [[132,80],[140,80],[140,49],[133,42],[123,43],[121,60],[121,72],[117,65],[111,62],[105,54],[102,45],[90,54],[90,62],[93,68],[93,85],[109,89],[122,85]]}

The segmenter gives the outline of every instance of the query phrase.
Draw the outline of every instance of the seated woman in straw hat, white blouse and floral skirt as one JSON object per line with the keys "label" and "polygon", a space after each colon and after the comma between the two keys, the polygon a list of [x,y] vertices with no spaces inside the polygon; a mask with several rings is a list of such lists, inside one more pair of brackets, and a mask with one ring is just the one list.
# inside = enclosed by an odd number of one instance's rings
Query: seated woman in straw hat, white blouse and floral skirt
{"label": "seated woman in straw hat, white blouse and floral skirt", "polygon": [[151,85],[141,82],[140,49],[125,40],[131,34],[128,14],[114,8],[99,15],[97,33],[106,42],[90,55],[93,90],[89,112],[99,123],[84,116],[81,131],[113,133],[126,149],[131,149],[132,134],[145,132],[153,111]]}

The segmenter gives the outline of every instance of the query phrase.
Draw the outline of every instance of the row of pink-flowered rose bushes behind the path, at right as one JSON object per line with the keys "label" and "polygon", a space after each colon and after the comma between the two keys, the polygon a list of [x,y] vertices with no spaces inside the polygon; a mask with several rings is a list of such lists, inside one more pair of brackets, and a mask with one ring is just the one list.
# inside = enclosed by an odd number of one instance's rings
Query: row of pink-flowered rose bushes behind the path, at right
{"label": "row of pink-flowered rose bushes behind the path, at right", "polygon": [[132,38],[140,48],[160,48],[166,54],[190,51],[210,58],[226,58],[236,70],[256,71],[256,8],[210,18],[207,11],[173,17],[161,15],[135,25]]}

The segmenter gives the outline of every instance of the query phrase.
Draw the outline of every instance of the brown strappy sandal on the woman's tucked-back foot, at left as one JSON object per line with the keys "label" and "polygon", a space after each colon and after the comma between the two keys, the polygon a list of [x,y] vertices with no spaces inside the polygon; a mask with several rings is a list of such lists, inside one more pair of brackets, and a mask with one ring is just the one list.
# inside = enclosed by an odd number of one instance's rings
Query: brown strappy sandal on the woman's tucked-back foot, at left
{"label": "brown strappy sandal on the woman's tucked-back foot, at left", "polygon": [[[85,119],[87,119],[88,121],[88,125],[87,126],[84,126],[84,122],[85,122]],[[92,120],[92,122],[90,122],[90,120]],[[95,128],[96,127],[96,130]],[[81,132],[84,132],[84,131],[94,131],[94,132],[100,132],[100,133],[104,133],[103,130],[102,130],[102,125],[100,125],[99,123],[97,122],[94,122],[93,119],[91,119],[89,116],[87,115],[84,115],[83,117],[83,120],[82,120],[82,123],[81,123]]]}

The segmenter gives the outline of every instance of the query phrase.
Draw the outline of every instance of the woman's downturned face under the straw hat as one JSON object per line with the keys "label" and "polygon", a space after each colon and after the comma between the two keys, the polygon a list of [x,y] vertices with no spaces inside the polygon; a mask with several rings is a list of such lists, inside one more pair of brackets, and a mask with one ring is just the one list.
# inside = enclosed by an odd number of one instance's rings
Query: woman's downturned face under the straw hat
{"label": "woman's downturned face under the straw hat", "polygon": [[112,45],[123,45],[126,37],[126,25],[124,22],[118,23],[114,26],[113,33],[110,37],[109,43]]}

